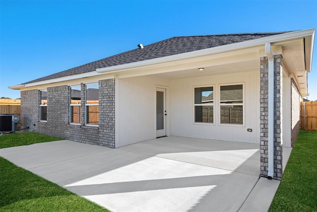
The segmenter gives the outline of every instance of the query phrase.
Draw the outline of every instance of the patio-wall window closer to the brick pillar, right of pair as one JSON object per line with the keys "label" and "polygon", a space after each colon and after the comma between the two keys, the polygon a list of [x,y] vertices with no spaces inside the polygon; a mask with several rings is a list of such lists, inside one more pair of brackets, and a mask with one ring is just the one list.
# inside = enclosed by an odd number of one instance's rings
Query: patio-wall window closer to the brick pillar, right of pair
{"label": "patio-wall window closer to the brick pillar, right of pair", "polygon": [[243,125],[243,84],[220,86],[220,124]]}

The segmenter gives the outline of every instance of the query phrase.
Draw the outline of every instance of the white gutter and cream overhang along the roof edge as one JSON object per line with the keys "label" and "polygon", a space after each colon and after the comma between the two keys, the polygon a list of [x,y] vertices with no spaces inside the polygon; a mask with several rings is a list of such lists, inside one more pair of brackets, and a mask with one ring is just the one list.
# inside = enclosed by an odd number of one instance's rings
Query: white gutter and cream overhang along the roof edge
{"label": "white gutter and cream overhang along the roof edge", "polygon": [[[182,53],[157,59],[145,60],[129,64],[96,69],[82,74],[65,76],[50,80],[44,80],[28,84],[11,86],[11,89],[24,89],[27,87],[52,84],[61,81],[69,81],[80,78],[96,76],[137,76],[159,74],[173,71],[197,69],[201,66],[221,66],[226,63],[238,63],[238,61],[259,60],[265,43],[271,43],[272,47],[280,47],[283,51],[283,63],[287,71],[297,76],[298,85],[303,96],[307,95],[307,72],[311,71],[315,29],[293,31],[279,35],[273,35],[255,40],[249,40],[229,45],[223,45],[193,52]],[[274,52],[273,52],[274,53]],[[295,69],[294,69],[295,68]],[[182,72],[183,74],[184,72]],[[297,75],[300,73],[299,75]],[[301,81],[300,76],[303,75]],[[302,89],[303,86],[303,89]]]}

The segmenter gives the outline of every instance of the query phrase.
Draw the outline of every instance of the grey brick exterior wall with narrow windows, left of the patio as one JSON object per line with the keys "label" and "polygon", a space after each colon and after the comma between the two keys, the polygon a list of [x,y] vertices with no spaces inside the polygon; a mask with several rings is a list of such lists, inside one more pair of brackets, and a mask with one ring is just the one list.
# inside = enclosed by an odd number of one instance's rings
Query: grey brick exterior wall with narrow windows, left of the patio
{"label": "grey brick exterior wall with narrow windows, left of the patio", "polygon": [[99,81],[99,126],[85,126],[85,84],[81,84],[81,124],[69,124],[67,85],[48,87],[47,122],[40,122],[40,91],[21,91],[21,122],[29,131],[114,148],[114,79]]}

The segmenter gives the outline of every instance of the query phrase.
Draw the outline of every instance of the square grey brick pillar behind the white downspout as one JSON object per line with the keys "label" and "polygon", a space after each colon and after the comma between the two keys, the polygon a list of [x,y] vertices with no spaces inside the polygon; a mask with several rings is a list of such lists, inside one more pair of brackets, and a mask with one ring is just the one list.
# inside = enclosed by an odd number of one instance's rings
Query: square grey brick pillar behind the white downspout
{"label": "square grey brick pillar behind the white downspout", "polygon": [[[268,59],[260,59],[261,177],[268,174]],[[274,55],[274,176],[282,177],[282,55]]]}

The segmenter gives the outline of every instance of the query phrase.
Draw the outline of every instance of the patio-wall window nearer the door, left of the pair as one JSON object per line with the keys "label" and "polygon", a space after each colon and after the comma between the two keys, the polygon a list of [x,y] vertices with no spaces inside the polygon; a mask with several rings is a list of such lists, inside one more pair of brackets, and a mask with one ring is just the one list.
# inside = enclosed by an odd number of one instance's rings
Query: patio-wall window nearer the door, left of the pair
{"label": "patio-wall window nearer the door, left of the pair", "polygon": [[213,87],[194,88],[195,122],[213,123]]}

